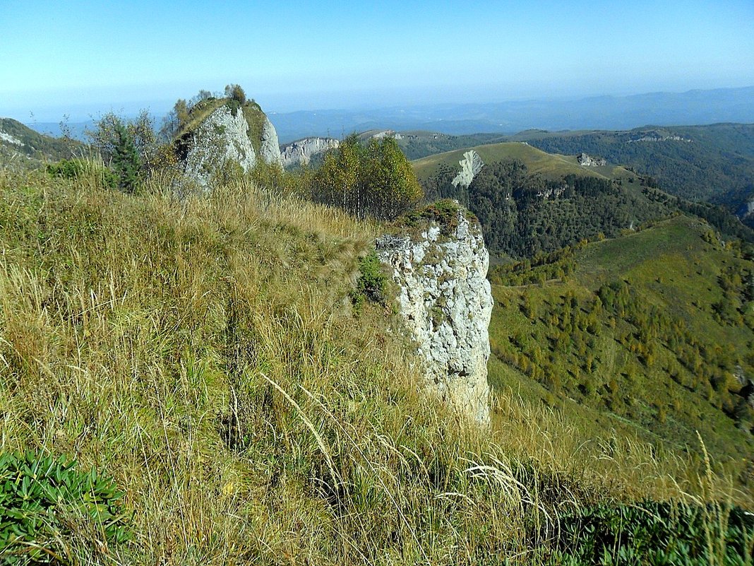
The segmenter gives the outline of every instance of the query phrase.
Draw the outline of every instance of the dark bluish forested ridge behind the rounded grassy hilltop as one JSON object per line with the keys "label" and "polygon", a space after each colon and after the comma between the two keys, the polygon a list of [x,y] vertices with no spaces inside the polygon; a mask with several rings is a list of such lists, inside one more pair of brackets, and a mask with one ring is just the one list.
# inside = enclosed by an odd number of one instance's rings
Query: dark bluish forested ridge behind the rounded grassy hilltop
{"label": "dark bluish forested ridge behind the rounded grassy hilltop", "polygon": [[[754,228],[754,214],[748,208],[754,198],[754,125],[751,124],[645,126],[630,131],[527,130],[513,136],[400,134],[403,151],[422,164],[431,163],[431,160],[422,160],[430,155],[493,141],[526,142],[545,152],[571,156],[567,159],[572,163],[572,156],[586,152],[624,165],[642,176],[654,177],[652,184],[659,183],[661,189],[670,194],[722,205],[738,214],[749,228]],[[527,162],[529,156],[518,152],[516,157]],[[553,168],[557,169],[554,161],[550,166]],[[599,168],[596,172],[606,177],[624,175],[623,171]]]}

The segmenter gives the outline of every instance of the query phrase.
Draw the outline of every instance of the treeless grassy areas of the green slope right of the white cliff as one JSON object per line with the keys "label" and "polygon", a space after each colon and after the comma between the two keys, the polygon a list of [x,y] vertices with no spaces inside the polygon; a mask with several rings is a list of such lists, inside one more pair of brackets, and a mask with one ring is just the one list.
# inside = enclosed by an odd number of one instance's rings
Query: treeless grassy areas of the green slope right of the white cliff
{"label": "treeless grassy areas of the green slope right of the white cliff", "polygon": [[[711,305],[722,297],[717,281],[721,270],[743,260],[734,258],[719,245],[703,241],[704,229],[706,225],[700,220],[677,217],[634,235],[587,246],[576,258],[575,274],[566,282],[551,281],[544,287],[495,285],[495,299],[504,308],[493,312],[492,343],[513,351],[516,348],[510,345],[509,337],[518,335],[528,344],[524,351],[531,349],[537,332],[547,334],[548,324],[544,318],[548,309],[561,303],[566,291],[572,291],[586,303],[592,300],[593,291],[602,283],[629,279],[646,303],[682,318],[702,343],[732,344],[737,354],[745,358],[754,333],[745,327],[720,324],[711,314]],[[537,321],[529,320],[520,310],[525,295],[542,306],[543,315]],[[754,458],[752,436],[737,429],[734,421],[706,401],[700,392],[692,392],[670,379],[667,364],[672,356],[667,349],[661,349],[658,361],[649,368],[636,361],[636,355],[617,340],[618,334],[628,328],[621,321],[617,327],[611,326],[607,317],[602,318],[592,350],[596,361],[590,376],[596,383],[596,392],[592,395],[582,395],[578,390],[578,383],[584,377],[581,368],[576,368],[572,360],[563,356],[556,358],[555,369],[563,383],[565,401],[554,401],[544,387],[498,361],[490,365],[491,381],[506,386],[516,382],[526,384],[524,387],[530,392],[551,405],[561,406],[569,418],[585,424],[592,421],[592,426],[587,424],[585,429],[633,429],[641,438],[670,447],[678,454],[698,453],[698,430],[716,457],[735,460],[734,469],[742,470],[746,461]],[[538,346],[546,352],[550,349],[547,343]],[[627,377],[629,366],[639,368],[633,382]],[[606,384],[612,379],[618,381],[620,395],[628,398],[629,407],[622,407],[618,414],[603,403],[603,398],[609,395]],[[667,417],[658,419],[660,411]],[[742,458],[745,461],[742,462]]]}

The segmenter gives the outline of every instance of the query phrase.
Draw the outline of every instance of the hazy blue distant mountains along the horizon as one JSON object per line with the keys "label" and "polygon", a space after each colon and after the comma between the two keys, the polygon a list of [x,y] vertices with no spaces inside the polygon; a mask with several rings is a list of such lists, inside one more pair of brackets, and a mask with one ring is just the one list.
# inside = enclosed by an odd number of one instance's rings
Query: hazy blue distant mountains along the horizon
{"label": "hazy blue distant mountains along the horizon", "polygon": [[[372,129],[430,130],[443,134],[544,130],[624,130],[649,124],[701,125],[754,122],[754,86],[684,93],[571,100],[512,100],[483,104],[434,104],[375,109],[322,109],[268,112],[280,143],[302,137],[343,137]],[[162,116],[157,116],[159,123]],[[74,137],[92,122],[70,123]],[[28,123],[36,131],[59,135],[54,122]]]}

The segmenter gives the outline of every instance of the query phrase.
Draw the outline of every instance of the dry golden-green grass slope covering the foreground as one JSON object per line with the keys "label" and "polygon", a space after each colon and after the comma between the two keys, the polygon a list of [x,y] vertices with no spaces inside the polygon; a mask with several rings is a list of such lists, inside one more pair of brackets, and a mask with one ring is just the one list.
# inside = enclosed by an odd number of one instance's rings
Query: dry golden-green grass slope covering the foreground
{"label": "dry golden-green grass slope covering the foreground", "polygon": [[[350,312],[374,236],[248,180],[179,200],[0,171],[0,448],[114,475],[127,564],[532,564],[561,512],[698,492],[524,380],[467,429],[385,312]],[[73,529],[69,558],[106,561]]]}

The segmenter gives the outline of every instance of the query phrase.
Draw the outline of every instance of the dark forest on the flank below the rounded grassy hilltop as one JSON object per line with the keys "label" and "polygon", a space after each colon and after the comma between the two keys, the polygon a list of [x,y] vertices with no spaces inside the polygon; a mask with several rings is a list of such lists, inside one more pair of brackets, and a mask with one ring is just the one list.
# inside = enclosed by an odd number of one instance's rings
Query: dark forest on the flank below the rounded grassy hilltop
{"label": "dark forest on the flank below the rounded grassy hilltop", "polygon": [[523,161],[508,160],[486,165],[464,189],[452,185],[456,172],[441,165],[425,180],[427,197],[461,201],[480,219],[489,248],[513,257],[549,253],[584,238],[614,237],[676,210],[652,198],[654,189],[635,176],[568,174],[546,180],[529,174]]}

